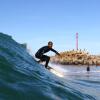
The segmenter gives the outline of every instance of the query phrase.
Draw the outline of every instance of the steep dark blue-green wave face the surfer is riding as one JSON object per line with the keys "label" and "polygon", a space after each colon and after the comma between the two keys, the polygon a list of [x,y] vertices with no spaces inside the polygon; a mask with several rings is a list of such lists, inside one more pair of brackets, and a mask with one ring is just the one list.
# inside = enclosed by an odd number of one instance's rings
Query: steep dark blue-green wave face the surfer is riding
{"label": "steep dark blue-green wave face the surfer is riding", "polygon": [[46,70],[11,36],[0,33],[0,100],[96,100],[74,85],[78,86]]}

